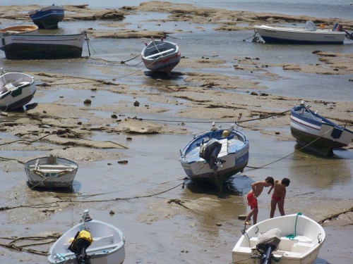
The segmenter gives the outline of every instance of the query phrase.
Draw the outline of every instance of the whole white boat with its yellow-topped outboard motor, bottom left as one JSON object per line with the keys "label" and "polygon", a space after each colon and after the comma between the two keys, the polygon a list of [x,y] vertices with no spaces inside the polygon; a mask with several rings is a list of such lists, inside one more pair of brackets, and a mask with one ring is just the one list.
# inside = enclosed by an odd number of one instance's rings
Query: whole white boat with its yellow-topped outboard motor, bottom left
{"label": "whole white boat with its yellow-topped outboard motor, bottom left", "polygon": [[63,234],[49,249],[49,263],[121,264],[125,237],[117,227],[92,220],[88,210],[80,223]]}

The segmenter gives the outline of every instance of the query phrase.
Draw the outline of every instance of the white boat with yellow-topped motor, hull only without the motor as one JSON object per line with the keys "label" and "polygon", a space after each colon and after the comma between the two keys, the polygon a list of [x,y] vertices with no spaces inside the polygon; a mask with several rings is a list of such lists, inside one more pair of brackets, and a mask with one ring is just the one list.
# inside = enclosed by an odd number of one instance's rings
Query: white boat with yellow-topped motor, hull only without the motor
{"label": "white boat with yellow-topped motor, hull only without the motor", "polygon": [[76,264],[76,256],[68,249],[70,239],[76,233],[86,230],[90,232],[93,242],[86,250],[91,264],[121,264],[125,259],[125,237],[117,227],[106,222],[90,220],[81,222],[63,234],[49,249],[49,263]]}

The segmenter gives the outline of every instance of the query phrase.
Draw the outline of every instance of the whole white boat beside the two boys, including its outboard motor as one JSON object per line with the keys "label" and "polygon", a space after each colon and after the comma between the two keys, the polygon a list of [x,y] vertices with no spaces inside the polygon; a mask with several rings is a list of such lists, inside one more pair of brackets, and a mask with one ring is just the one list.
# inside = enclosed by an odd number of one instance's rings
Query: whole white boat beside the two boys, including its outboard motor
{"label": "whole white boat beside the two boys, including its outboard motor", "polygon": [[323,227],[301,213],[270,218],[244,232],[232,251],[232,263],[311,264],[324,241]]}

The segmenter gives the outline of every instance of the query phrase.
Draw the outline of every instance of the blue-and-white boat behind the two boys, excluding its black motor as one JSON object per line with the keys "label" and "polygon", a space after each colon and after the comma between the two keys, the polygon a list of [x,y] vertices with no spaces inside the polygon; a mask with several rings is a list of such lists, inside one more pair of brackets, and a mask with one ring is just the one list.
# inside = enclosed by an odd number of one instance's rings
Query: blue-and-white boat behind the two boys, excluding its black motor
{"label": "blue-and-white boat behind the two boys, excluding its black motor", "polygon": [[[208,146],[210,140],[217,139],[220,149],[212,161],[203,156],[200,151],[203,145]],[[206,151],[207,152],[207,151]],[[211,182],[222,191],[222,184],[237,172],[242,172],[249,161],[249,140],[234,125],[229,130],[213,128],[204,134],[195,136],[180,151],[180,163],[186,175],[194,181]]]}

